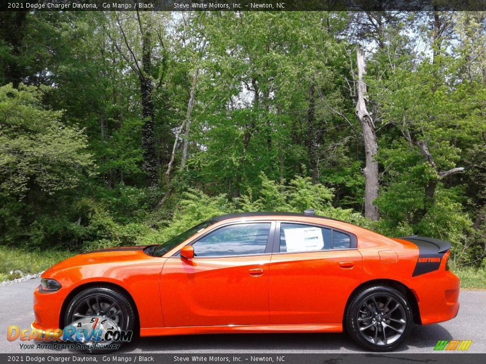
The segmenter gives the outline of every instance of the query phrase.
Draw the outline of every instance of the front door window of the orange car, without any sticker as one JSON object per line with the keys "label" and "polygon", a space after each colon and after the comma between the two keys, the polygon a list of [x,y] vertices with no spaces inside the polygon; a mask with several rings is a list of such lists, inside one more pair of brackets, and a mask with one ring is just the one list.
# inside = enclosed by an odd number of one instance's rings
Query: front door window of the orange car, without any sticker
{"label": "front door window of the orange car, without any sticker", "polygon": [[223,226],[199,239],[192,246],[195,257],[263,254],[270,233],[270,222]]}

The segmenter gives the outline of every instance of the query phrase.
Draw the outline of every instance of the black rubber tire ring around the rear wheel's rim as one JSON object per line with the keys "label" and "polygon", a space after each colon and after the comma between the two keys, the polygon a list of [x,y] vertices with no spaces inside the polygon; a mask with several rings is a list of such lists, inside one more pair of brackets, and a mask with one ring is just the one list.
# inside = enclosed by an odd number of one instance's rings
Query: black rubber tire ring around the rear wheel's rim
{"label": "black rubber tire ring around the rear wheel's rim", "polygon": [[[405,327],[405,330],[403,331],[403,334],[400,336],[398,340],[393,342],[392,344],[389,345],[375,345],[372,344],[371,342],[367,341],[359,332],[359,326],[357,323],[357,312],[361,306],[361,302],[363,299],[366,297],[375,295],[375,294],[388,294],[393,296],[395,299],[397,299],[401,305],[403,306],[405,313],[407,315],[407,325]],[[390,351],[395,349],[396,347],[400,346],[404,340],[407,339],[407,337],[410,335],[410,332],[412,331],[412,327],[414,325],[413,321],[413,313],[412,313],[412,308],[407,301],[407,299],[401,294],[399,291],[397,291],[394,288],[391,287],[385,287],[385,286],[373,286],[369,287],[366,289],[363,289],[359,292],[357,292],[354,296],[353,299],[351,300],[348,309],[346,310],[346,329],[351,336],[351,338],[356,341],[358,344],[361,346],[366,347],[369,350],[372,351]]]}

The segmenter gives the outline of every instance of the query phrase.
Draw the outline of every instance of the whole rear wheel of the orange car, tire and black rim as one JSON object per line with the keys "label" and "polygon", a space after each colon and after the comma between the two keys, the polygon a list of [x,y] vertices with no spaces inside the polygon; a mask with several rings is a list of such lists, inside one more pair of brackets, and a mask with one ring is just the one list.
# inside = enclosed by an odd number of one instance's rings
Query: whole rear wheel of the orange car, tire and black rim
{"label": "whole rear wheel of the orange car, tire and black rim", "polygon": [[346,307],[346,331],[371,351],[394,350],[407,339],[413,325],[407,298],[391,287],[363,288],[353,294]]}

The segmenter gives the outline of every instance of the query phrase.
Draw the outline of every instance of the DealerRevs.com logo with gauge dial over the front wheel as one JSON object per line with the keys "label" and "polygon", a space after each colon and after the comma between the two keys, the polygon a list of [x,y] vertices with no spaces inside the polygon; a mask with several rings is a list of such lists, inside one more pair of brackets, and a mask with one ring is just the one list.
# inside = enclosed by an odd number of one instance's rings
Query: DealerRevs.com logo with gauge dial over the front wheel
{"label": "DealerRevs.com logo with gauge dial over the front wheel", "polygon": [[116,350],[120,346],[116,342],[130,342],[132,336],[131,330],[121,330],[112,320],[100,316],[83,317],[62,330],[20,329],[16,325],[7,330],[9,341],[24,342],[20,343],[21,349]]}

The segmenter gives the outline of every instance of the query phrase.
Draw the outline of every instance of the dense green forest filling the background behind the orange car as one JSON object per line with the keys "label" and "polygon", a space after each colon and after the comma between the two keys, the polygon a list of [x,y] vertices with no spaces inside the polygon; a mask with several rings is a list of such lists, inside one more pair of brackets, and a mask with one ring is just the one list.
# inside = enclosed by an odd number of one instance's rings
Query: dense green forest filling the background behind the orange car
{"label": "dense green forest filling the background behind the orange car", "polygon": [[484,264],[486,13],[1,13],[0,85],[0,245],[315,208]]}

